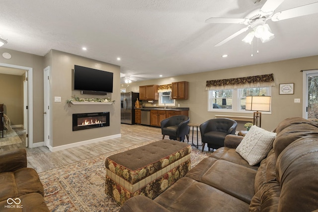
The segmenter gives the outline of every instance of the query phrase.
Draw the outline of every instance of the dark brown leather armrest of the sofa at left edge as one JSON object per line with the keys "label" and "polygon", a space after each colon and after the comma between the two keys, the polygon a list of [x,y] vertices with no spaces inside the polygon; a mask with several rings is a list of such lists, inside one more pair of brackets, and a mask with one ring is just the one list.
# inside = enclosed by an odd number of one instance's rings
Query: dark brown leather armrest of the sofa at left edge
{"label": "dark brown leather armrest of the sofa at left edge", "polygon": [[0,153],[0,172],[16,171],[25,167],[27,167],[25,149],[14,149]]}

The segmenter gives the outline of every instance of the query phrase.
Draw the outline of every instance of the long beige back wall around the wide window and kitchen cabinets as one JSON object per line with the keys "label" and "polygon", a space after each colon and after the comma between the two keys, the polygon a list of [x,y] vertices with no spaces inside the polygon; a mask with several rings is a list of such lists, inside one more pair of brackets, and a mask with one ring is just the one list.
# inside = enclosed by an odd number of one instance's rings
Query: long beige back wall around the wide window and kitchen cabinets
{"label": "long beige back wall around the wide window and kitchen cabinets", "polygon": [[[133,82],[127,87],[122,84],[121,88],[127,91],[139,92],[140,85],[167,84],[175,81],[189,81],[189,99],[177,100],[180,107],[189,107],[190,122],[203,123],[208,119],[215,118],[215,115],[238,115],[252,116],[252,113],[220,113],[208,112],[208,91],[205,90],[206,80],[226,79],[242,76],[274,73],[276,86],[272,87],[272,111],[271,115],[262,115],[262,128],[274,130],[282,120],[289,117],[302,117],[302,103],[294,103],[294,98],[302,100],[303,82],[301,70],[318,68],[318,56],[299,58],[293,60],[278,61],[253,66],[237,67],[231,69],[208,71],[195,74],[180,75],[169,78],[159,78],[142,82]],[[295,83],[293,95],[279,95],[280,83]],[[156,103],[156,102],[155,102]],[[147,104],[147,106],[151,106]],[[243,122],[244,123],[244,122]],[[242,130],[240,123],[239,130]]]}

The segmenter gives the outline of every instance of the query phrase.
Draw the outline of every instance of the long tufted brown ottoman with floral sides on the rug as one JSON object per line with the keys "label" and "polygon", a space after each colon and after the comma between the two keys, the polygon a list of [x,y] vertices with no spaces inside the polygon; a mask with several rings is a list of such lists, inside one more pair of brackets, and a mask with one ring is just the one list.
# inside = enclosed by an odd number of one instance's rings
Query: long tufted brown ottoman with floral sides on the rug
{"label": "long tufted brown ottoman with floral sides on the rug", "polygon": [[191,146],[160,140],[106,158],[105,193],[119,205],[136,195],[151,199],[191,168]]}

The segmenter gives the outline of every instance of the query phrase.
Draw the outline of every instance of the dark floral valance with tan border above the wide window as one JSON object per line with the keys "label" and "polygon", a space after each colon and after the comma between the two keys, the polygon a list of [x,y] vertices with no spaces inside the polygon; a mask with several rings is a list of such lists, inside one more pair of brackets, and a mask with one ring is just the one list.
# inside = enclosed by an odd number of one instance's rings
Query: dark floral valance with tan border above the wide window
{"label": "dark floral valance with tan border above the wide window", "polygon": [[275,86],[274,74],[245,76],[231,79],[207,80],[206,90]]}

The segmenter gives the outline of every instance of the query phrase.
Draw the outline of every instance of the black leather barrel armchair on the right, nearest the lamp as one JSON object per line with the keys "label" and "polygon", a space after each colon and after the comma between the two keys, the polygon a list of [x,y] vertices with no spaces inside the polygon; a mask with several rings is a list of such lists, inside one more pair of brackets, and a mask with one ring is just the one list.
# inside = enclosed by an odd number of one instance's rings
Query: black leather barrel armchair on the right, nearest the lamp
{"label": "black leather barrel armchair on the right, nearest the lamp", "polygon": [[235,135],[238,123],[232,119],[220,118],[210,119],[200,125],[202,140],[202,151],[205,144],[210,148],[220,148],[224,146],[224,139],[227,135]]}

